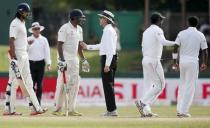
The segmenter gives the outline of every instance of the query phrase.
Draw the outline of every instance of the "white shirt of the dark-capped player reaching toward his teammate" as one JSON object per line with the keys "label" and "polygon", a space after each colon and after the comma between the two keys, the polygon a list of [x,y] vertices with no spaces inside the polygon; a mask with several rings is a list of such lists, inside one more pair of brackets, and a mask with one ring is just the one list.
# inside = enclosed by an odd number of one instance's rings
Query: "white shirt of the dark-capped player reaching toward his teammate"
{"label": "white shirt of the dark-capped player reaching toward his teammate", "polygon": [[151,25],[143,33],[142,52],[144,57],[160,59],[162,56],[163,45],[174,45],[175,42],[165,39],[163,30],[157,25]]}

